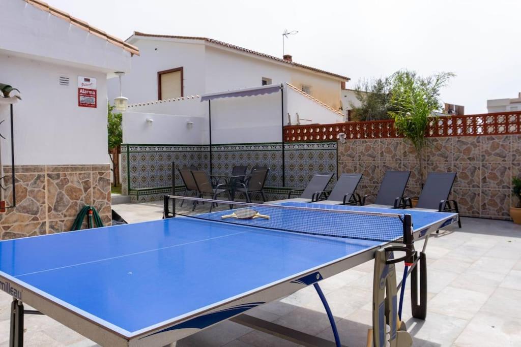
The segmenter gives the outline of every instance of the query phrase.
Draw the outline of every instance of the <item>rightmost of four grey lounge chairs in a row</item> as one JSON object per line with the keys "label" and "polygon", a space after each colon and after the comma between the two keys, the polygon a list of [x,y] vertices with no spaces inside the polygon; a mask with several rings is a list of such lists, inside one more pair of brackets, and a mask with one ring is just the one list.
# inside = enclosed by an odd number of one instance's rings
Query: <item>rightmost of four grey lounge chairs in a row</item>
{"label": "rightmost of four grey lounge chairs in a row", "polygon": [[[432,210],[438,212],[460,213],[456,200],[449,200],[452,186],[456,179],[455,172],[429,172],[425,185],[421,189],[418,203],[414,209]],[[400,198],[395,204],[402,204],[412,208],[412,197]],[[458,219],[458,226],[461,228],[461,221]]]}

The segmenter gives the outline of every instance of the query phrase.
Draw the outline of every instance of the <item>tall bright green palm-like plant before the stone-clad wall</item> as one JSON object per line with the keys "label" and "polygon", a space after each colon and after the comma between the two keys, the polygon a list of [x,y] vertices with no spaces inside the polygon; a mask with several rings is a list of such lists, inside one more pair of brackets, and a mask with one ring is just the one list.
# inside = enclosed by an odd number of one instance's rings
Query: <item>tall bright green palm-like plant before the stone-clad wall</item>
{"label": "tall bright green palm-like plant before the stone-clad wall", "polygon": [[391,108],[389,115],[400,135],[410,140],[420,164],[421,184],[424,183],[424,157],[427,146],[427,125],[434,113],[442,108],[440,89],[455,76],[441,72],[426,78],[414,71],[401,70],[391,76]]}

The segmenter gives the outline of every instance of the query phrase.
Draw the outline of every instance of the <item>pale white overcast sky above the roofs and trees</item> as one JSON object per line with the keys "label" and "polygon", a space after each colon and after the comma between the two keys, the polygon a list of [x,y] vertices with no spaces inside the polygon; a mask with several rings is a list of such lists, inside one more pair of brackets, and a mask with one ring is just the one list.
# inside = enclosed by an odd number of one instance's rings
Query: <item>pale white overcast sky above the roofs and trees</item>
{"label": "pale white overcast sky above the roofs and trees", "polygon": [[442,100],[465,113],[521,92],[521,1],[46,0],[107,33],[205,36],[351,78],[407,68],[457,74]]}

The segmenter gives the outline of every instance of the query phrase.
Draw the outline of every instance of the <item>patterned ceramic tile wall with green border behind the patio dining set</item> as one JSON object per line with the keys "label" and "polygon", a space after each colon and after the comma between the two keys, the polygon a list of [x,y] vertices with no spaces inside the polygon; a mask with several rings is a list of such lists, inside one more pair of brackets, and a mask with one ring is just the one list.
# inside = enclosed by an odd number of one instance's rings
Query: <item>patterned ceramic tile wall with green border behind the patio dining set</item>
{"label": "patterned ceramic tile wall with green border behind the patio dining set", "polygon": [[[122,193],[132,202],[159,200],[171,191],[171,162],[176,167],[195,165],[209,172],[208,146],[122,145]],[[286,187],[305,187],[317,172],[333,172],[336,182],[337,144],[292,143],[284,145]],[[282,187],[282,144],[229,144],[212,146],[212,171],[229,173],[234,165],[267,166],[270,169],[266,187]],[[176,186],[182,185],[176,172]],[[271,190],[270,190],[271,191]],[[279,198],[280,192],[268,192]]]}

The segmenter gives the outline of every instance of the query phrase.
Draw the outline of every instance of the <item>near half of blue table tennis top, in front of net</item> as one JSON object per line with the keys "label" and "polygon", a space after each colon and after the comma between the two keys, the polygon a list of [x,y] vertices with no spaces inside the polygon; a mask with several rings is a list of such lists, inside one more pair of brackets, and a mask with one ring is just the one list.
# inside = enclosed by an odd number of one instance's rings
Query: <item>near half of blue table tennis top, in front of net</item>
{"label": "near half of blue table tennis top, in front of net", "polygon": [[126,334],[377,245],[176,217],[2,241],[0,271]]}

